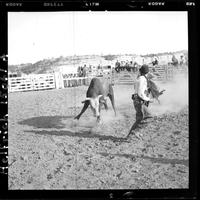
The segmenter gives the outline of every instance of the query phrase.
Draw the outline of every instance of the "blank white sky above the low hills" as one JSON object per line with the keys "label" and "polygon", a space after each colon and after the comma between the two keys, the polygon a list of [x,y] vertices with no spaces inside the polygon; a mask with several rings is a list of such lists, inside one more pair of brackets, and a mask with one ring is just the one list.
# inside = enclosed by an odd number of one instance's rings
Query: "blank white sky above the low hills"
{"label": "blank white sky above the low hills", "polygon": [[187,12],[9,12],[8,64],[188,49]]}

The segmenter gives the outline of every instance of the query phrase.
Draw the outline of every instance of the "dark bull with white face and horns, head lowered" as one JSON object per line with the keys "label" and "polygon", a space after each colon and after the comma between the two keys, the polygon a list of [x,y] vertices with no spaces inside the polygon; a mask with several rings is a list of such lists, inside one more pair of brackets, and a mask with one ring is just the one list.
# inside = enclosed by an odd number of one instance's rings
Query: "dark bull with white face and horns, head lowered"
{"label": "dark bull with white face and horns, head lowered", "polygon": [[84,106],[81,112],[74,119],[79,120],[81,115],[86,111],[86,109],[90,105],[94,116],[97,117],[97,121],[99,122],[102,105],[104,105],[105,109],[108,110],[107,101],[105,97],[109,97],[116,115],[114,92],[112,85],[105,80],[103,81],[98,78],[93,78],[87,90],[86,99],[82,101],[82,103],[84,103]]}

